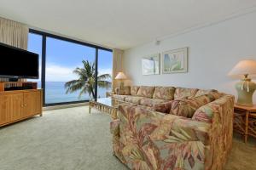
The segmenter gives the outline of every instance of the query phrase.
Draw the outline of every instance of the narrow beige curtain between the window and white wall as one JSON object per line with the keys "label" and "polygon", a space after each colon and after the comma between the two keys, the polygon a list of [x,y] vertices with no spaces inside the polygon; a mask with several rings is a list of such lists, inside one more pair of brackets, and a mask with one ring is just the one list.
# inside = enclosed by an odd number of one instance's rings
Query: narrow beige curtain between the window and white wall
{"label": "narrow beige curtain between the window and white wall", "polygon": [[124,51],[113,49],[113,71],[112,71],[112,90],[118,87],[118,83],[114,79],[120,71],[124,71]]}

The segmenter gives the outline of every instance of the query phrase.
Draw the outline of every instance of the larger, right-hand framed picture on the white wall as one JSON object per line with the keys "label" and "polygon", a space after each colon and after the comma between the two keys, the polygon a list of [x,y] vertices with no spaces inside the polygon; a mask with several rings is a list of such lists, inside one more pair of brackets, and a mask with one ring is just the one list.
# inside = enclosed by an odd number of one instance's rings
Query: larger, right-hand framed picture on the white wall
{"label": "larger, right-hand framed picture on the white wall", "polygon": [[188,48],[179,48],[162,53],[162,73],[188,72]]}

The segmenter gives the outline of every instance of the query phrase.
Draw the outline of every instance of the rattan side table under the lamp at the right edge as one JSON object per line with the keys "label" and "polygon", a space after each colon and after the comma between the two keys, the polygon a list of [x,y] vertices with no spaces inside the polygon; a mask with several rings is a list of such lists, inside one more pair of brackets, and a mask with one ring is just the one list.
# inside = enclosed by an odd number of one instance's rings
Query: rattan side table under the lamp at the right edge
{"label": "rattan side table under the lamp at the right edge", "polygon": [[256,138],[256,105],[235,104],[234,112],[234,131],[243,135],[245,143],[248,136]]}

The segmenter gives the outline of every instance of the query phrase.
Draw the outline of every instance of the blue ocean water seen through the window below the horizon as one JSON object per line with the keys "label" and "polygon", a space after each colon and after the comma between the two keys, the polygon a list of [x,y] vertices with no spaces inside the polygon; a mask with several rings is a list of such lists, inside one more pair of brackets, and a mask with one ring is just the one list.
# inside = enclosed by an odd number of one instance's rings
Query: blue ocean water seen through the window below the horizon
{"label": "blue ocean water seen through the window below the horizon", "polygon": [[[38,87],[41,87],[38,82]],[[111,88],[98,88],[98,98],[106,97],[106,92],[111,91]],[[79,91],[66,94],[65,82],[45,82],[45,103],[61,103],[72,102],[78,100],[89,100],[89,94],[82,94],[79,98]]]}

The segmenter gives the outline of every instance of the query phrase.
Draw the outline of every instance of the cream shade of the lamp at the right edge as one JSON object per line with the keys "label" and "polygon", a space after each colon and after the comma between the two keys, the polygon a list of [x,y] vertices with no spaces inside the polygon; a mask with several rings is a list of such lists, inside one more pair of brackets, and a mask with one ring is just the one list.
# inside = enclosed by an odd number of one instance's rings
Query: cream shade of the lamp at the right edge
{"label": "cream shade of the lamp at the right edge", "polygon": [[256,60],[241,60],[235,65],[228,75],[230,77],[243,75],[256,76]]}

